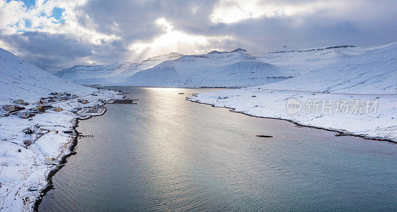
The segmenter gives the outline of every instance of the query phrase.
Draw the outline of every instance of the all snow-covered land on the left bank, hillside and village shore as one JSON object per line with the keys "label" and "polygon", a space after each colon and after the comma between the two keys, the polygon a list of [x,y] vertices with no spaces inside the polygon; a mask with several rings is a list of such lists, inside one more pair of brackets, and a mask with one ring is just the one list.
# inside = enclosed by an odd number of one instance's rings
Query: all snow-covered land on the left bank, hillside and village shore
{"label": "all snow-covered land on the left bank, hillside and village shore", "polygon": [[[77,98],[55,102],[52,105],[62,107],[62,111],[46,110],[27,119],[12,114],[0,116],[0,211],[32,211],[47,185],[48,174],[69,153],[72,138],[63,131],[70,130],[76,117],[87,112],[81,109],[80,114],[74,114],[70,110],[96,105],[98,99],[117,97],[118,93],[67,82],[2,49],[0,88],[0,105],[14,105],[13,100],[23,99],[29,103],[24,106],[28,109],[52,92],[67,92],[90,102],[82,105]],[[96,96],[90,95],[93,93]],[[25,135],[26,128],[35,132]],[[55,160],[48,164],[45,158]],[[38,190],[28,191],[30,187]]]}

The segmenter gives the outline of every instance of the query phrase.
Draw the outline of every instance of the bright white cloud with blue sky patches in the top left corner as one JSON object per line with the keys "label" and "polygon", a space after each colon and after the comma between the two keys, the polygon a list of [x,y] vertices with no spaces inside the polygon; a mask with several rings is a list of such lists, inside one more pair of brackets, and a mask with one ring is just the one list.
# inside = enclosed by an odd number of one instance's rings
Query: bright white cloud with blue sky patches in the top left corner
{"label": "bright white cloud with blue sky patches in the top left corner", "polygon": [[[17,32],[44,32],[50,34],[67,35],[81,42],[90,42],[95,45],[120,39],[114,34],[97,32],[96,23],[86,15],[87,24],[91,27],[83,27],[78,23],[78,15],[81,12],[77,6],[84,5],[87,0],[37,0],[34,6],[27,8],[21,1],[0,1],[0,29],[1,33],[15,34]],[[55,7],[64,9],[62,19],[64,23],[58,23],[53,17]],[[31,26],[26,27],[25,21],[30,21]]]}

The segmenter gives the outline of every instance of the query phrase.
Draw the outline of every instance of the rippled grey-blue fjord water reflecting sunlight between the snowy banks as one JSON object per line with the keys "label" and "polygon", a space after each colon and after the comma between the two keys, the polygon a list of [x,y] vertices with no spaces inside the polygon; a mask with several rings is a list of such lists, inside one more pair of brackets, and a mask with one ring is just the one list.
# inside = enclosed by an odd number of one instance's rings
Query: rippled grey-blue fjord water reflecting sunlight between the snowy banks
{"label": "rippled grey-blue fjord water reflecting sunlight between the snowy banks", "polygon": [[[116,88],[137,105],[80,121],[39,211],[396,211],[396,144]],[[272,135],[260,138],[256,135]]]}

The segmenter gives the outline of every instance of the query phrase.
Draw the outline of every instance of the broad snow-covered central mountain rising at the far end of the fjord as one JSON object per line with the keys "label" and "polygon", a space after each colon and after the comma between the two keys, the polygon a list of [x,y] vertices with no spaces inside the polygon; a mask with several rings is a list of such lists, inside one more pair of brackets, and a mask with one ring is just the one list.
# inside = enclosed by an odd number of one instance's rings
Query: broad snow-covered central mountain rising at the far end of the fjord
{"label": "broad snow-covered central mountain rising at the far end of the fjord", "polygon": [[185,55],[136,72],[125,85],[153,87],[247,87],[282,81],[292,71],[265,63],[245,50]]}

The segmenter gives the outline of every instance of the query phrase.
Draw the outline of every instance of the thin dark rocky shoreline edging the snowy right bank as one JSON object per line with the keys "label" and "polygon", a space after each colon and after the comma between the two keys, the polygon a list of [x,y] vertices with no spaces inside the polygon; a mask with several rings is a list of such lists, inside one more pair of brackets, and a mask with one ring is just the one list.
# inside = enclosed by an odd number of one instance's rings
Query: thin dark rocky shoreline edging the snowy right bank
{"label": "thin dark rocky shoreline edging the snowy right bank", "polygon": [[[192,96],[198,97],[195,94],[192,94]],[[257,115],[248,114],[248,113],[245,113],[245,112],[242,112],[242,111],[237,111],[236,108],[233,108],[233,107],[215,106],[215,105],[212,105],[212,104],[209,104],[209,103],[202,103],[202,102],[198,102],[198,101],[193,101],[193,100],[191,100],[191,97],[186,97],[186,99],[189,100],[192,103],[199,103],[199,104],[209,105],[209,106],[213,106],[213,107],[223,107],[223,108],[229,109],[230,112],[241,113],[241,114],[252,116],[252,117],[256,117],[256,118],[270,118],[270,119],[284,120],[284,121],[291,122],[291,123],[293,123],[293,124],[295,124],[297,126],[300,126],[300,127],[309,127],[309,128],[313,128],[313,129],[321,129],[321,130],[327,130],[327,131],[339,133],[339,134],[336,134],[335,136],[354,136],[354,137],[360,137],[360,138],[368,139],[368,140],[387,141],[387,142],[391,142],[391,143],[397,144],[397,141],[394,141],[394,140],[391,140],[391,139],[388,139],[388,138],[370,137],[370,136],[366,136],[366,135],[349,133],[348,131],[341,130],[341,129],[330,129],[330,128],[325,128],[325,127],[320,127],[320,126],[305,125],[305,124],[301,124],[301,123],[299,123],[297,121],[290,120],[290,119],[285,119],[285,118],[274,118],[274,117],[257,116]]]}

